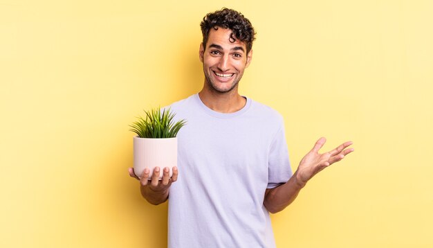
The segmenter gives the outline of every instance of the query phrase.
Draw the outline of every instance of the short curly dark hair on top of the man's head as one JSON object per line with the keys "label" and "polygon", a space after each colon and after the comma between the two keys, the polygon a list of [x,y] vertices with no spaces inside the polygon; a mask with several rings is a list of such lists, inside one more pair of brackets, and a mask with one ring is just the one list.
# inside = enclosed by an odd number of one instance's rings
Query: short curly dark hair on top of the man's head
{"label": "short curly dark hair on top of the man's head", "polygon": [[255,30],[251,25],[250,20],[244,17],[240,12],[230,8],[222,8],[215,12],[208,13],[201,21],[201,33],[203,33],[203,47],[206,48],[208,42],[210,28],[217,30],[218,27],[230,28],[230,42],[235,42],[239,39],[246,44],[246,52],[250,52],[252,42],[255,40]]}

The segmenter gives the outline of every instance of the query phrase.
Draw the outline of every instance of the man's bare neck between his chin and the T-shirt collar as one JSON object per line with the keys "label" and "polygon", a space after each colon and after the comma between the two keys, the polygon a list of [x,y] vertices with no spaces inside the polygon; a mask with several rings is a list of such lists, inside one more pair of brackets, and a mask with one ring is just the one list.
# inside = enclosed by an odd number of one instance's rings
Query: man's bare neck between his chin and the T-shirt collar
{"label": "man's bare neck between his chin and the T-shirt collar", "polygon": [[234,113],[246,105],[246,98],[239,95],[237,88],[221,93],[203,87],[199,96],[204,105],[220,113]]}

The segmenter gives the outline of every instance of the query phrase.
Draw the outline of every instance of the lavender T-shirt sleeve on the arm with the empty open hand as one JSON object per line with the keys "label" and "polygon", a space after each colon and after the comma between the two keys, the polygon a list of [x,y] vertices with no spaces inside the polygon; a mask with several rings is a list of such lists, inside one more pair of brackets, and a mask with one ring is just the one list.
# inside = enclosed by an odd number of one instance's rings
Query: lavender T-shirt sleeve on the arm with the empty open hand
{"label": "lavender T-shirt sleeve on the arm with the empty open hand", "polygon": [[275,133],[273,142],[270,145],[268,156],[268,187],[275,188],[286,183],[292,176],[292,169],[288,159],[288,148],[284,123],[281,121],[279,130]]}

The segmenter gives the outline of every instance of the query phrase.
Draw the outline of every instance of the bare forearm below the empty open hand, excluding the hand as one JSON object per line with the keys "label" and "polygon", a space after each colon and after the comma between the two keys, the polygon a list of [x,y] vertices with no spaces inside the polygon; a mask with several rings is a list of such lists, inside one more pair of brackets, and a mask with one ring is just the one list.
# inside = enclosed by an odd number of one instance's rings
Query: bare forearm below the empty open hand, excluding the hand
{"label": "bare forearm below the empty open hand, excluding the hand", "polygon": [[270,213],[282,211],[296,199],[304,186],[305,183],[297,178],[297,172],[295,172],[285,184],[266,191],[264,206]]}

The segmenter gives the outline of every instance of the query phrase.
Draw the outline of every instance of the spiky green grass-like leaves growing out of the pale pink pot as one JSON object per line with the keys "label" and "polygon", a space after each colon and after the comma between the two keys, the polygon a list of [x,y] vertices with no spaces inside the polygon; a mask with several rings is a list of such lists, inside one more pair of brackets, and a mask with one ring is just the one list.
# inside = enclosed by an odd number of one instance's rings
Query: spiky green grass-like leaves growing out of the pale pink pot
{"label": "spiky green grass-like leaves growing out of the pale pink pot", "polygon": [[138,121],[129,125],[132,127],[130,131],[135,132],[140,138],[174,138],[176,137],[181,127],[186,124],[185,120],[173,123],[173,118],[176,114],[172,113],[170,109],[151,109],[145,111],[145,118],[139,116]]}

